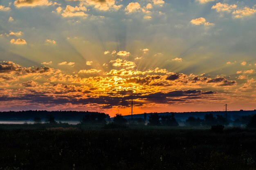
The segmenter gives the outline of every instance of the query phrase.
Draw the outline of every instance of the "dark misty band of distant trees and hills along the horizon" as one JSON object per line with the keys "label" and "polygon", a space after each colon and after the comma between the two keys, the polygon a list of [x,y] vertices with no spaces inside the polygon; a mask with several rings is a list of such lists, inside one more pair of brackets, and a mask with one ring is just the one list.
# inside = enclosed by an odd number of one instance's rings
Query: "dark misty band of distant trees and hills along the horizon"
{"label": "dark misty band of distant trees and hills along the horizon", "polygon": [[34,121],[34,123],[57,123],[57,121],[77,121],[77,123],[120,123],[122,124],[148,124],[152,126],[212,126],[232,125],[247,126],[256,110],[212,112],[186,112],[186,113],[144,113],[133,115],[119,115],[110,119],[105,113],[88,111],[47,111],[26,110],[0,112],[0,121]]}

